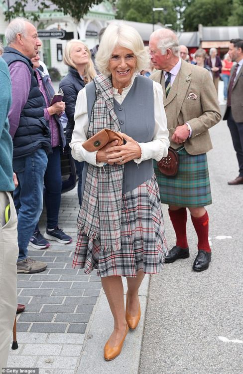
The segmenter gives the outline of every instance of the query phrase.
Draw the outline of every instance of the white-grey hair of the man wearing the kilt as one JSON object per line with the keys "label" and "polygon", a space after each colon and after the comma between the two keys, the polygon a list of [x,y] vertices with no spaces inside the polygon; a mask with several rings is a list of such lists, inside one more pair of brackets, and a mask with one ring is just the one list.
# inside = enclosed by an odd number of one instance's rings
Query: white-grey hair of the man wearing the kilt
{"label": "white-grey hair of the man wearing the kilt", "polygon": [[165,54],[166,49],[169,48],[175,56],[179,57],[179,40],[173,31],[159,28],[152,33],[152,36],[158,39],[157,48],[160,49],[161,54]]}

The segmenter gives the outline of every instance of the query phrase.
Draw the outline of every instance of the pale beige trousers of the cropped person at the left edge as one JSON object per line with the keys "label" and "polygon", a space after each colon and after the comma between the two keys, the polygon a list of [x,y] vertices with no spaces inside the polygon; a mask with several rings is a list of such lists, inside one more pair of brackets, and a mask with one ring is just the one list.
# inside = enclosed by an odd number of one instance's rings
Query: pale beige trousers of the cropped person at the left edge
{"label": "pale beige trousers of the cropped person at the left edge", "polygon": [[[5,207],[10,203],[10,218]],[[17,310],[17,215],[9,192],[0,191],[0,373],[7,366],[12,328]]]}

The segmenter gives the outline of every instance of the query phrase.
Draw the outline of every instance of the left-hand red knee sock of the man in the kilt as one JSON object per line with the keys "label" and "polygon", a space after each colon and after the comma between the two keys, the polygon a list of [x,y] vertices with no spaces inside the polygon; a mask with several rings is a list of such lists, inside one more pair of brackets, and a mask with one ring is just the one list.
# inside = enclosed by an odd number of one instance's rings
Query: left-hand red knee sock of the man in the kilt
{"label": "left-hand red knee sock of the man in the kilt", "polygon": [[183,249],[188,248],[187,237],[186,237],[186,221],[187,212],[186,208],[180,208],[178,210],[168,209],[169,216],[176,234],[176,245]]}

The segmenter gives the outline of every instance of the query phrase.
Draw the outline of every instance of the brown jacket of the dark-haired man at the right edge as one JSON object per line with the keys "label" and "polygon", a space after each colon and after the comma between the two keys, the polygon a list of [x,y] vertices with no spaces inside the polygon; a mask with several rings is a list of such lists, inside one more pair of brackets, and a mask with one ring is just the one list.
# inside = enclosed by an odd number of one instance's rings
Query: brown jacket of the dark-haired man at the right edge
{"label": "brown jacket of the dark-haired man at the right edge", "polygon": [[[233,65],[231,69],[231,76],[235,70],[235,66],[236,65]],[[229,107],[226,108],[224,120],[227,120],[228,118],[229,109]],[[234,86],[232,88],[231,111],[235,122],[243,122],[243,65],[236,76]]]}

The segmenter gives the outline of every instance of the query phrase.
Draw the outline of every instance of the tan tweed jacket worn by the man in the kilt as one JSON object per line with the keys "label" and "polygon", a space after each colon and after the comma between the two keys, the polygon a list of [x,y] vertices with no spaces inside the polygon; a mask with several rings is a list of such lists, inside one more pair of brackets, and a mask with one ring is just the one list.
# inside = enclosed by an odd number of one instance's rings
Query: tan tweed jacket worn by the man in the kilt
{"label": "tan tweed jacket worn by the man in the kilt", "polygon": [[192,136],[184,143],[190,155],[200,155],[212,149],[209,129],[220,119],[220,108],[216,89],[209,72],[199,66],[181,61],[170,92],[166,98],[163,71],[158,70],[150,78],[162,85],[167,127],[170,133],[171,147],[180,145],[171,141],[171,136],[179,125],[188,122],[192,128]]}

